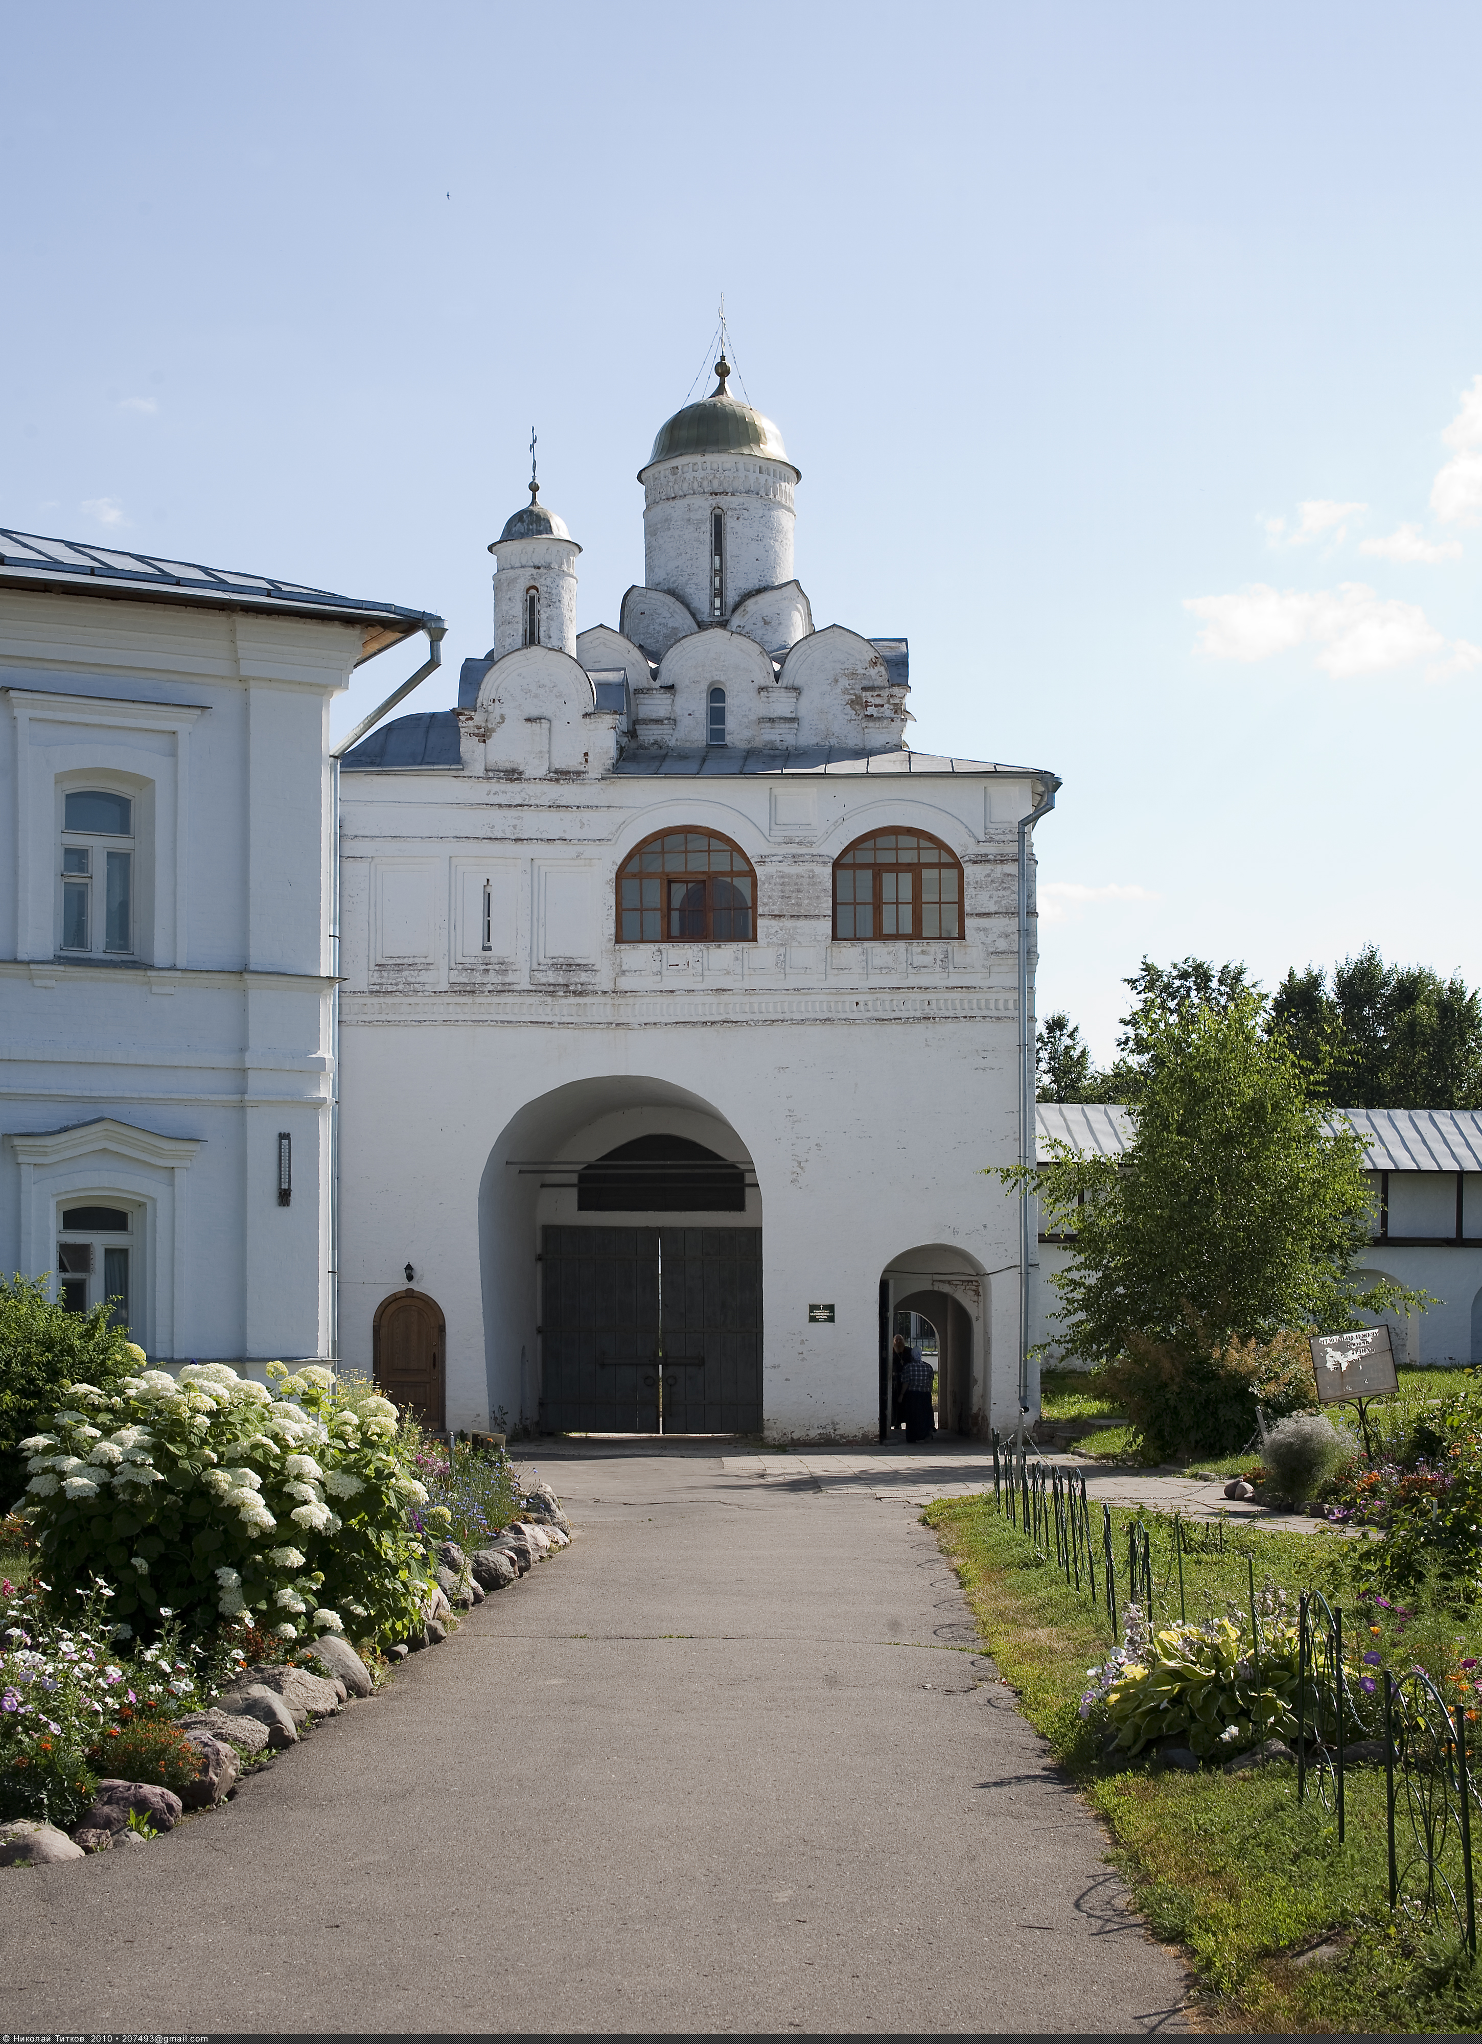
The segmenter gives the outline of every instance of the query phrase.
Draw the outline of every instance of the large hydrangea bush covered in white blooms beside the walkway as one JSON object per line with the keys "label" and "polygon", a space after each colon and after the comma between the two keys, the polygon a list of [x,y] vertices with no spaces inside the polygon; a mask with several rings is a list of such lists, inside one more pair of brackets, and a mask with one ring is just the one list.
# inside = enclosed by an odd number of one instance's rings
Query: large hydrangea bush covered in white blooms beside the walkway
{"label": "large hydrangea bush covered in white blooms beside the walkway", "polygon": [[67,1386],[22,1443],[43,1566],[106,1578],[114,1619],[143,1633],[174,1615],[192,1633],[405,1637],[427,1594],[407,1511],[427,1494],[399,1466],[397,1408],[339,1398],[317,1365],[268,1374],[272,1390],[225,1363]]}

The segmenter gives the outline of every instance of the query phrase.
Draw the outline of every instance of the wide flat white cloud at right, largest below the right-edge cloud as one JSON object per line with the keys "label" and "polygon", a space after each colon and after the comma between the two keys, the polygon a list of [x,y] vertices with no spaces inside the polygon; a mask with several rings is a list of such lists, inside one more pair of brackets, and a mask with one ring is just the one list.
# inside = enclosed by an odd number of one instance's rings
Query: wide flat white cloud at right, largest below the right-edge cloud
{"label": "wide flat white cloud at right, largest below the right-edge cloud", "polygon": [[1433,662],[1431,681],[1482,664],[1482,646],[1447,640],[1419,603],[1380,597],[1365,583],[1337,589],[1271,589],[1249,583],[1224,597],[1186,597],[1204,619],[1200,652],[1212,660],[1267,660],[1298,646],[1321,646],[1316,664],[1335,681],[1378,675],[1417,660]]}

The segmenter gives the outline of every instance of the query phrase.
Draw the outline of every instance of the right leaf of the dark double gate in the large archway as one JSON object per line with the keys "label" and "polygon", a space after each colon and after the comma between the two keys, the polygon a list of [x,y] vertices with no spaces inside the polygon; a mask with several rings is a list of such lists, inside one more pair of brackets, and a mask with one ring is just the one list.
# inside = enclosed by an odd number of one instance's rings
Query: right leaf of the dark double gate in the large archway
{"label": "right leaf of the dark double gate in the large archway", "polygon": [[760,1433],[760,1228],[662,1228],[660,1253],[664,1433]]}

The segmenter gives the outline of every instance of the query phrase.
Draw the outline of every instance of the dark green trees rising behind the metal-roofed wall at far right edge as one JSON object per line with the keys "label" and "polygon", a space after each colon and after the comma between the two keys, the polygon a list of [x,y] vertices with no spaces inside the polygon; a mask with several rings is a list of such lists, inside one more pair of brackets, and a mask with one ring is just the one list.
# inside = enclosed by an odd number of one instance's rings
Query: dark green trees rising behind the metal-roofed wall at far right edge
{"label": "dark green trees rising behind the metal-roofed wall at far right edge", "polygon": [[1335,1108],[1482,1106],[1482,995],[1423,965],[1386,965],[1374,944],[1333,973],[1290,971],[1269,1028]]}

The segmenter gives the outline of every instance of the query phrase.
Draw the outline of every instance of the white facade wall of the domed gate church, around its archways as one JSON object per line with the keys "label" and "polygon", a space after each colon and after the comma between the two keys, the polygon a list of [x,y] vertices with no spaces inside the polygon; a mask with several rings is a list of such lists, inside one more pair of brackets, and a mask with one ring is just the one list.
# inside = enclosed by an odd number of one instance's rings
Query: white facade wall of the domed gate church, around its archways
{"label": "white facade wall of the domed gate church, around its archways", "polygon": [[[699,1116],[756,1167],[771,1437],[875,1431],[879,1280],[922,1245],[981,1284],[979,1410],[1010,1425],[1016,1220],[981,1171],[1018,1143],[1016,834],[987,822],[985,779],[348,771],[343,1359],[370,1365],[411,1261],[448,1322],[448,1423],[534,1419],[554,1208],[509,1161],[593,1155],[611,1116],[679,1134]],[[617,867],[666,828],[746,850],[758,942],[615,942]],[[834,856],[893,828],[963,858],[961,942],[832,942]],[[399,948],[376,908],[390,875],[421,903]],[[484,881],[491,953],[470,940]],[[809,1325],[816,1302],[832,1327]]]}

